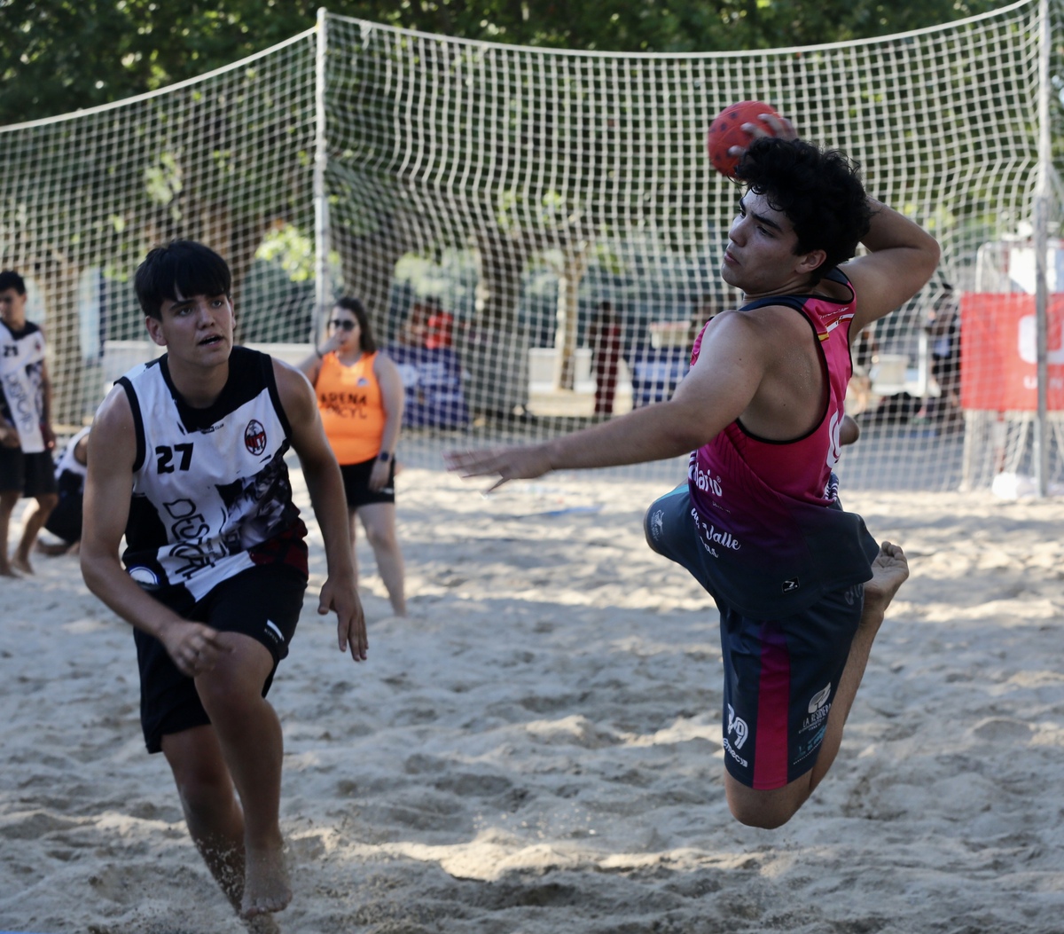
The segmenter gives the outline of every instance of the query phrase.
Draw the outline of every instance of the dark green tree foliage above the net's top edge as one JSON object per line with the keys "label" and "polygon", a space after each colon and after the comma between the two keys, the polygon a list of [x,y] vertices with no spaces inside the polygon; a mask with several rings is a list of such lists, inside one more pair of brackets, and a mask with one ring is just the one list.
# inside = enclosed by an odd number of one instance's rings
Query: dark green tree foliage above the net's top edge
{"label": "dark green tree foliage above the net's top edge", "polygon": [[[0,124],[203,74],[314,26],[310,0],[0,0]],[[330,13],[513,45],[765,49],[885,35],[1002,0],[334,0]]]}

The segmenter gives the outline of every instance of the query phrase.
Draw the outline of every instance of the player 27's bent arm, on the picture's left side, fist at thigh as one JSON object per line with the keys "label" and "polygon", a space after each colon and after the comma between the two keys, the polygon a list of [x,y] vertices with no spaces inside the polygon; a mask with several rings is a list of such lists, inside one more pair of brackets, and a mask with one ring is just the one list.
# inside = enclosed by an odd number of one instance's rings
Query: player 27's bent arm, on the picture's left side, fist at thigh
{"label": "player 27's bent arm, on the picture's left side, fist at thigh", "polygon": [[195,678],[211,671],[230,650],[216,630],[182,619],[142,590],[118,557],[133,489],[135,437],[129,400],[116,386],[97,412],[88,436],[81,571],[89,590],[124,620],[155,636],[178,669]]}

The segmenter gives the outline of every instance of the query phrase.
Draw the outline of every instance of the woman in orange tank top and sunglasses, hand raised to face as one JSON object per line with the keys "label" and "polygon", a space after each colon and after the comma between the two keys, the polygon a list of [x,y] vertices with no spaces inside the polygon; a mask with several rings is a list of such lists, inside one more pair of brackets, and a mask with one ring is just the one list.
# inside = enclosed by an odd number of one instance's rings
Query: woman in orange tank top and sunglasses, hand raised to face
{"label": "woman in orange tank top and sunglasses, hand raised to face", "polygon": [[300,369],[314,385],[326,437],[344,476],[352,554],[359,516],[392,610],[405,616],[395,506],[395,450],[403,407],[399,368],[377,349],[362,302],[342,298],[333,307],[328,339]]}

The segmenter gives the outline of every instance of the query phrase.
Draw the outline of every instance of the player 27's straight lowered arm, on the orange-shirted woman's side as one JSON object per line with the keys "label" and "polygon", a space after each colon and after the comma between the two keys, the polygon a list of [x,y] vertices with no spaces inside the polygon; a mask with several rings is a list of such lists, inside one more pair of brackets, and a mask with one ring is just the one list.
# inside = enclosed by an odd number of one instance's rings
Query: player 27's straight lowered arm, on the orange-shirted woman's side
{"label": "player 27's straight lowered arm, on the orange-shirted woman's side", "polygon": [[362,662],[369,644],[366,617],[354,584],[344,481],[321,428],[314,390],[302,373],[278,360],[273,361],[273,374],[292,427],[292,447],[299,455],[311,505],[326,546],[328,576],[318,598],[318,613],[322,616],[329,611],[336,613],[339,650],[349,650],[355,662]]}

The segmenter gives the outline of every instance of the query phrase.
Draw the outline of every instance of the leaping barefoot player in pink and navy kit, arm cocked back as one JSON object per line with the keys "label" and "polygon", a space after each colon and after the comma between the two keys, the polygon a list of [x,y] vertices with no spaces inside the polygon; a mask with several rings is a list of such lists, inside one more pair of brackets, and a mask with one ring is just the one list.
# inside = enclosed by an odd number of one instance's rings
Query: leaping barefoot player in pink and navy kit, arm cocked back
{"label": "leaping barefoot player in pink and navy kit, arm cocked back", "polygon": [[[842,508],[832,468],[850,343],[934,273],[940,250],[871,199],[845,154],[766,119],[720,276],[739,307],[701,331],[672,398],[542,444],[448,454],[464,477],[508,480],[689,454],[647,511],[650,547],[686,567],[720,611],[725,788],[743,823],[777,828],[831,768],[887,604],[909,576]],[[858,245],[866,253],[854,258]],[[495,487],[493,486],[493,489]]]}

